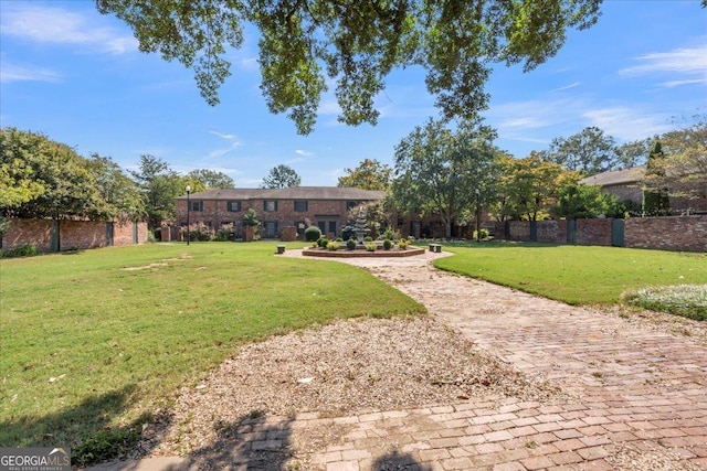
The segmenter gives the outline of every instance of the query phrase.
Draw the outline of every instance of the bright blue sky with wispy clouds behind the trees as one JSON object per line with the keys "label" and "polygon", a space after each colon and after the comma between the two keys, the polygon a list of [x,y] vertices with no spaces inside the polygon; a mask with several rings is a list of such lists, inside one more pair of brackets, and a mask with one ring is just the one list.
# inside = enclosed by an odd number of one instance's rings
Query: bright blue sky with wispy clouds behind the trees
{"label": "bright blue sky with wispy clouds behind the trees", "polygon": [[[484,116],[498,147],[523,158],[587,126],[622,143],[707,113],[707,10],[698,0],[608,0],[602,11],[534,72],[495,68]],[[315,131],[298,136],[284,115],[267,111],[256,56],[249,31],[230,52],[221,104],[210,107],[191,71],[140,53],[131,31],[93,1],[0,0],[0,124],[124,169],[148,153],[180,173],[212,169],[255,188],[281,163],[303,185],[336,185],[366,158],[392,165],[394,146],[436,115],[423,73],[398,71],[377,99],[378,126],[338,124],[327,95]]]}

